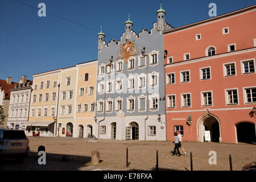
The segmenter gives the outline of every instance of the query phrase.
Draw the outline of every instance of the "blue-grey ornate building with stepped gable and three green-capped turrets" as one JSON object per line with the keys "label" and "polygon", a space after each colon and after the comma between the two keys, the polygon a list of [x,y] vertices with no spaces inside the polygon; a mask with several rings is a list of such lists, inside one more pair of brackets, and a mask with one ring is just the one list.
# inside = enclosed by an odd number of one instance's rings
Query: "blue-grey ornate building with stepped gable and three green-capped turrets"
{"label": "blue-grey ornate building with stepped gable and three green-capped turrets", "polygon": [[172,27],[156,12],[150,31],[125,22],[120,40],[98,33],[95,132],[99,138],[166,140],[164,36]]}

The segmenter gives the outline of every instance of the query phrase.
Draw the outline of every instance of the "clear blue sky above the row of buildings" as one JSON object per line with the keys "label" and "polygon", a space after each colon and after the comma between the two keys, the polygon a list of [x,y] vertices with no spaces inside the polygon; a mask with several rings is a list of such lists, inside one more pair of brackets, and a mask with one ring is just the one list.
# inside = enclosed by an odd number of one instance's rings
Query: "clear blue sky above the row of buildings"
{"label": "clear blue sky above the row of buildings", "polygon": [[[18,0],[46,12],[80,23],[68,22],[50,14],[39,17],[38,10],[14,0],[0,0],[0,79],[19,81],[53,69],[70,67],[97,59],[97,33],[100,26],[105,40],[119,40],[128,14],[137,34],[150,30],[156,21],[160,0]],[[208,5],[217,5],[217,16],[255,4],[255,0],[162,0],[166,21],[173,27],[210,18]],[[90,27],[90,28],[86,28]],[[93,30],[92,30],[93,29]]]}

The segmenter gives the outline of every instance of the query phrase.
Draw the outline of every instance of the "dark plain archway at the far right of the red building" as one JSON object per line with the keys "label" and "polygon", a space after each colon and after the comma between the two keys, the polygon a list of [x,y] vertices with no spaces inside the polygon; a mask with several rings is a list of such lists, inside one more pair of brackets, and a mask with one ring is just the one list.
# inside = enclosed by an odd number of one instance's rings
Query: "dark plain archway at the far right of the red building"
{"label": "dark plain archway at the far right of the red building", "polygon": [[255,124],[251,122],[240,122],[236,124],[237,142],[254,143],[255,138]]}

